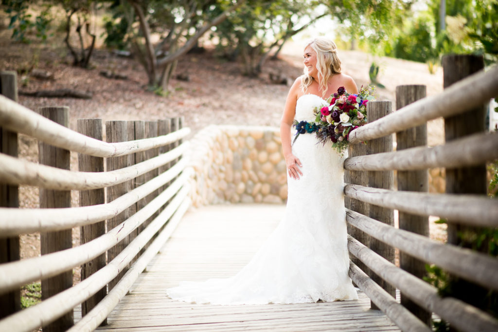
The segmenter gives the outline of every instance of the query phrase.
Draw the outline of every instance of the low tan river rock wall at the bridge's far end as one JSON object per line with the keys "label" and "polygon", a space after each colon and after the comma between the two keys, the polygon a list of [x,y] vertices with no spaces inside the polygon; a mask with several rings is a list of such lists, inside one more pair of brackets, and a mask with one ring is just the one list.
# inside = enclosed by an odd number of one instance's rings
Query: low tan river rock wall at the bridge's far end
{"label": "low tan river rock wall at the bridge's far end", "polygon": [[209,126],[191,140],[191,198],[220,203],[284,203],[287,175],[274,127]]}

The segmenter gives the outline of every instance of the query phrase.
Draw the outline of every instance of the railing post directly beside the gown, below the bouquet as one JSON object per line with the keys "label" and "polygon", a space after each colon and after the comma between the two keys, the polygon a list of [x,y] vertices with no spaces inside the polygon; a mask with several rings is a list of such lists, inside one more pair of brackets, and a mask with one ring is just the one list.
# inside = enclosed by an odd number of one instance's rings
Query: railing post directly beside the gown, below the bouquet
{"label": "railing post directly beside the gown, below the bouquet", "polygon": [[[366,154],[367,154],[367,145],[364,143],[351,144],[348,147],[349,157],[365,156]],[[368,173],[366,171],[346,170],[344,172],[344,181],[350,184],[359,184],[363,186],[368,186],[369,184]],[[345,205],[348,209],[361,213],[364,216],[369,215],[369,204],[347,196],[344,197],[344,199],[345,199]],[[353,238],[360,241],[365,246],[369,247],[370,236],[368,234],[349,224],[348,224],[348,233]],[[365,265],[360,259],[358,259],[356,256],[352,254],[350,254],[350,258],[365,273],[367,274],[369,273],[367,265]]]}

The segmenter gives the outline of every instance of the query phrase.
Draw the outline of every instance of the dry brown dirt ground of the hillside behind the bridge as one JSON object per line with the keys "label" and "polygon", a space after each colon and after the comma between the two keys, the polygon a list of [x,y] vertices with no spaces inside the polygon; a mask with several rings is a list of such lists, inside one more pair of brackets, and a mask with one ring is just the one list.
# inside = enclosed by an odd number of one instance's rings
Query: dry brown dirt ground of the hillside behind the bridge
{"label": "dry brown dirt ground of the hillside behind the bridge", "polygon": [[[194,135],[210,124],[243,124],[279,126],[285,97],[289,86],[272,84],[269,74],[280,74],[292,82],[302,73],[302,45],[290,42],[279,60],[268,61],[259,78],[242,75],[241,66],[218,57],[214,52],[187,54],[178,63],[176,74],[186,75],[188,82],[173,79],[167,96],[146,90],[147,78],[140,64],[130,58],[113,55],[106,50],[96,50],[90,69],[71,66],[71,59],[61,41],[48,45],[18,44],[9,39],[5,23],[0,26],[0,70],[18,73],[20,91],[72,88],[90,92],[91,99],[36,98],[19,96],[19,103],[36,110],[43,106],[65,105],[70,107],[70,127],[76,130],[79,118],[108,120],[156,120],[168,117],[185,117],[185,126]],[[400,84],[425,84],[427,94],[442,91],[442,70],[430,74],[427,65],[410,61],[374,57],[359,51],[341,51],[343,72],[353,77],[358,85],[370,82],[369,68],[374,61],[380,65],[378,81],[385,85],[377,89],[377,100],[395,98],[395,87]],[[29,76],[32,68],[53,74],[51,80]],[[102,70],[127,77],[126,80],[107,79]],[[395,105],[393,106],[395,107]],[[429,144],[443,140],[442,121],[429,124]],[[36,142],[19,135],[19,158],[37,162]],[[72,169],[77,169],[77,156],[72,154]],[[72,192],[73,206],[78,206],[78,193]],[[38,189],[20,186],[21,208],[36,208]],[[444,227],[431,224],[431,236],[443,241]],[[79,244],[79,229],[73,230],[73,245]],[[40,253],[39,234],[21,236],[21,258]],[[75,281],[79,271],[75,270]]]}

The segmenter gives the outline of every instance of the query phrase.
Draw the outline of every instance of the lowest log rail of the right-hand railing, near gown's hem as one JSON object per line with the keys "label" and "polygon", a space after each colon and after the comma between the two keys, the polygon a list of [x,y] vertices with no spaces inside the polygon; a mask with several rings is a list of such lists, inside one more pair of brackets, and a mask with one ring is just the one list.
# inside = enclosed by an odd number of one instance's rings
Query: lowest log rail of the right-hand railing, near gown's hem
{"label": "lowest log rail of the right-hand railing, near gown's hem", "polygon": [[355,263],[350,262],[349,276],[358,287],[382,310],[382,312],[405,332],[432,331],[408,309],[399,304],[389,293],[382,289]]}

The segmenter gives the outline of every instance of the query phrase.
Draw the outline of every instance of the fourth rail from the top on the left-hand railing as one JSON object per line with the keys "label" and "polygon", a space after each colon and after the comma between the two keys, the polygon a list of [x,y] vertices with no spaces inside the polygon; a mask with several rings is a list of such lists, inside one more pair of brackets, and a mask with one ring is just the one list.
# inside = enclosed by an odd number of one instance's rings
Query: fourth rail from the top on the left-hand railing
{"label": "fourth rail from the top on the left-hand railing", "polygon": [[1,264],[0,294],[28,282],[57,275],[106,252],[152,216],[188,182],[189,178],[189,174],[178,177],[166,190],[133,216],[95,240],[71,249]]}

